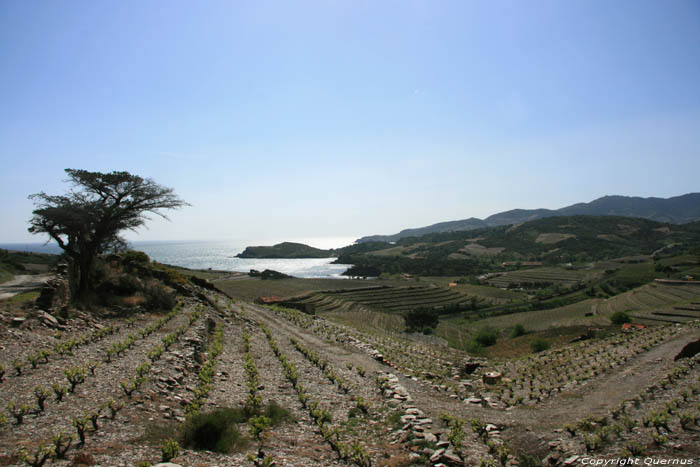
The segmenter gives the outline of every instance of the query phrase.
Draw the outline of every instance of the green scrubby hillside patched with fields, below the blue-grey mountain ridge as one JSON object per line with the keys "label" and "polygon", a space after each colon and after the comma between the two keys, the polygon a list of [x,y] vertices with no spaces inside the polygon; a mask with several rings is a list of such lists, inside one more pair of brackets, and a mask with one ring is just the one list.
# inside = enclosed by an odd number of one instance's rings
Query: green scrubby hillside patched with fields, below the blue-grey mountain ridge
{"label": "green scrubby hillside patched with fields, below the blue-grey mountain ridge", "polygon": [[[545,264],[666,254],[700,242],[697,223],[673,225],[616,216],[557,216],[521,225],[407,237],[371,251],[341,249],[347,275],[409,273],[432,276],[487,272],[503,262]],[[360,244],[364,245],[364,244]]]}

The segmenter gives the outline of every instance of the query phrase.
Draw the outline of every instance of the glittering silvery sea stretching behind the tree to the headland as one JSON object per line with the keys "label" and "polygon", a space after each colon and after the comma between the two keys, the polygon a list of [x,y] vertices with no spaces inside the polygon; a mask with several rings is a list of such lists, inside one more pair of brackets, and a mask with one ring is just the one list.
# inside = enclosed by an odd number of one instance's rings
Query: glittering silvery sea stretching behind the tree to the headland
{"label": "glittering silvery sea stretching behind the tree to the headland", "polygon": [[[296,241],[296,240],[295,240]],[[299,240],[300,243],[305,243]],[[309,245],[318,248],[331,248],[349,245],[352,239],[343,244],[342,240],[315,239]],[[304,259],[252,259],[236,258],[246,246],[260,245],[260,242],[243,241],[134,241],[130,248],[143,251],[159,263],[182,266],[190,269],[214,269],[219,271],[249,272],[251,269],[264,271],[272,269],[294,277],[346,279],[343,276],[350,265],[332,264],[336,258]],[[264,243],[270,244],[273,243]],[[318,246],[322,245],[322,246]],[[51,243],[0,243],[1,249],[29,251],[36,253],[60,254],[61,249]]]}

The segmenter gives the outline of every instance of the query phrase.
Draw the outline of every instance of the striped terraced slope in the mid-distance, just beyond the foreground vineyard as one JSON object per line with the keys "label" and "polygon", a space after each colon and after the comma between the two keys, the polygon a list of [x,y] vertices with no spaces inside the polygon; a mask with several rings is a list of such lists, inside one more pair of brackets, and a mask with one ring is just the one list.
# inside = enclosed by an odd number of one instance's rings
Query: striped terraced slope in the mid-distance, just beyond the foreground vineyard
{"label": "striped terraced slope in the mid-distance, just beyond the foreground vineyard", "polygon": [[290,300],[294,303],[313,305],[317,313],[366,309],[401,313],[419,307],[471,307],[476,301],[475,297],[433,286],[376,286],[354,290],[327,290]]}

